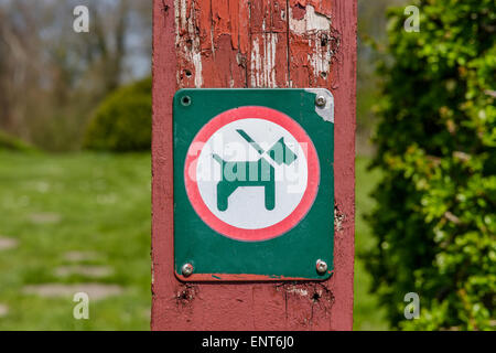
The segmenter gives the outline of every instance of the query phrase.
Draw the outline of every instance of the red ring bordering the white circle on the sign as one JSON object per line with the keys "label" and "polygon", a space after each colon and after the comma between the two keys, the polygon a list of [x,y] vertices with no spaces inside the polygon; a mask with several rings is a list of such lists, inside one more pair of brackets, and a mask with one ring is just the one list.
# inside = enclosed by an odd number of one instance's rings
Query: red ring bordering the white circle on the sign
{"label": "red ring bordering the white circle on the sign", "polygon": [[[192,180],[187,173],[192,165],[194,167],[194,164],[196,164],[197,157],[200,156],[198,151],[192,150],[192,146],[195,146],[196,143],[206,143],[222,127],[241,119],[262,119],[277,124],[289,131],[299,143],[304,142],[309,147],[306,151],[303,149],[306,152],[308,184],[302,200],[293,212],[284,220],[259,229],[238,228],[218,218],[203,201],[196,180]],[[262,242],[288,233],[308,214],[319,192],[321,179],[320,171],[319,157],[315,147],[305,130],[296,121],[285,114],[268,107],[246,106],[222,113],[200,130],[187,151],[186,161],[184,163],[184,183],[187,197],[190,199],[193,208],[212,229],[235,240]]]}

